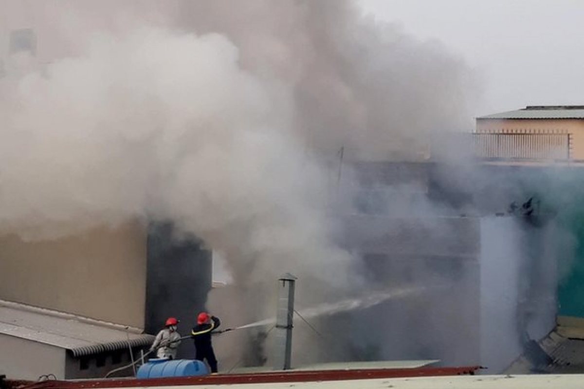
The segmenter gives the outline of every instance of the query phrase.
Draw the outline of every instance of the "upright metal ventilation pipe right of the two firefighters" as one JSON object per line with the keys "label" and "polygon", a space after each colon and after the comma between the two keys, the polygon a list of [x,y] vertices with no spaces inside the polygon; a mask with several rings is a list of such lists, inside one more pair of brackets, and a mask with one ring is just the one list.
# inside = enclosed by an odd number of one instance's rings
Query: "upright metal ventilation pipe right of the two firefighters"
{"label": "upright metal ventilation pipe right of the two firefighters", "polygon": [[278,279],[278,311],[274,336],[274,370],[288,370],[292,359],[292,322],[294,318],[294,283],[297,278],[286,273]]}

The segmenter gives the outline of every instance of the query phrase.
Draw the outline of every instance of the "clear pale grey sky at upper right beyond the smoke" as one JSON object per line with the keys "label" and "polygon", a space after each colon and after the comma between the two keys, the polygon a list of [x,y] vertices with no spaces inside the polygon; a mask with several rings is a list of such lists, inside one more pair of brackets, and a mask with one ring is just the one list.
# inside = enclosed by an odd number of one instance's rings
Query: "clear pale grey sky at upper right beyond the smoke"
{"label": "clear pale grey sky at upper right beyond the smoke", "polygon": [[482,91],[475,116],[527,105],[584,105],[584,1],[359,0],[380,22],[439,41]]}

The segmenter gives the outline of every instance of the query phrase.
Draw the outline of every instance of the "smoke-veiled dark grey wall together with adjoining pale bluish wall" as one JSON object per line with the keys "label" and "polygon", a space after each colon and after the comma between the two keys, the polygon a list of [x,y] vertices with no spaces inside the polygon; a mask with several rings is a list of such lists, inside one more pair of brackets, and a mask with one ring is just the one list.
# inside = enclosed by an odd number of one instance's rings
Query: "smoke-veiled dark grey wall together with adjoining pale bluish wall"
{"label": "smoke-veiled dark grey wall together with adjoining pale bluish wall", "polygon": [[359,333],[353,336],[353,355],[481,364],[499,373],[529,352],[530,340],[554,328],[558,252],[551,221],[537,226],[515,216],[351,221],[358,223],[348,224],[345,242],[363,253],[361,275],[370,287],[444,286],[376,305],[359,315],[363,328],[349,319],[331,322],[339,338]]}

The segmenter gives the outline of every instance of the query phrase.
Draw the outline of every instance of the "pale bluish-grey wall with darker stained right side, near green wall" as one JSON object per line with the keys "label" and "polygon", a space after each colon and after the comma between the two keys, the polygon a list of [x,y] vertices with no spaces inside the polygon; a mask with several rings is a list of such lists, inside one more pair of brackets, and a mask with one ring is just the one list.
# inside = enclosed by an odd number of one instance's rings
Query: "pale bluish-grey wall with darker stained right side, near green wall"
{"label": "pale bluish-grey wall with darker stained right side, near green wall", "polygon": [[481,364],[498,374],[555,327],[555,225],[481,222]]}

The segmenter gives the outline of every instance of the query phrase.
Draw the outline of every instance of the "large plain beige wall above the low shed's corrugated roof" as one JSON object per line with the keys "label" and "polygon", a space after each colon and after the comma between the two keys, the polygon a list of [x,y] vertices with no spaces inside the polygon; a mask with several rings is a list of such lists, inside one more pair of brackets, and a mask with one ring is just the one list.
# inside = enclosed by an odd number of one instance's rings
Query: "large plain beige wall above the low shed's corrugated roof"
{"label": "large plain beige wall above the low shed's corrugated roof", "polygon": [[0,237],[0,298],[144,328],[146,231],[138,223],[54,241]]}

